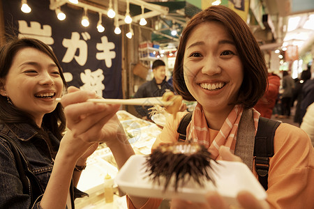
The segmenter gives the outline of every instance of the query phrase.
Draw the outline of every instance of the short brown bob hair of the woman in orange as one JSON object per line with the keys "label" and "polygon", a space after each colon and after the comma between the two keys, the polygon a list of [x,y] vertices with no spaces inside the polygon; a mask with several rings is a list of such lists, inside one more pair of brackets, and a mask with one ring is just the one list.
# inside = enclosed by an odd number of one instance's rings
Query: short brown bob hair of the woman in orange
{"label": "short brown bob hair of the woman in orange", "polygon": [[184,52],[191,31],[203,22],[220,22],[234,40],[244,67],[244,79],[235,104],[242,104],[244,109],[254,107],[267,89],[267,67],[264,56],[246,23],[237,13],[225,6],[211,6],[197,13],[182,31],[177,59],[174,63],[174,89],[184,100],[195,101],[184,82]]}

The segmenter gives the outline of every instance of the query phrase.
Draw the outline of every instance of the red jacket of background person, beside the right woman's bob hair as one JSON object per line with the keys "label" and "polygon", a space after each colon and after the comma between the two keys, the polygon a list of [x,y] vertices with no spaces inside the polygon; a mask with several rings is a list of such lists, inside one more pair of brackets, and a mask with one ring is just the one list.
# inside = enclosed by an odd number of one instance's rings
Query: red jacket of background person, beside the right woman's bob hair
{"label": "red jacket of background person, beside the right woman's bob hair", "polygon": [[279,87],[281,86],[281,78],[274,74],[274,72],[268,73],[268,88],[263,97],[255,104],[256,109],[261,117],[271,118],[273,109],[277,102]]}

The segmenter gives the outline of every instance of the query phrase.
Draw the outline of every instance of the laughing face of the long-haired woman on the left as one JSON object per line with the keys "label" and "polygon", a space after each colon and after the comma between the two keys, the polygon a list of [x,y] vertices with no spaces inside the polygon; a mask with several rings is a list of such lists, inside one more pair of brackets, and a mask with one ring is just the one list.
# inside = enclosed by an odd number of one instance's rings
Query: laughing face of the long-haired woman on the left
{"label": "laughing face of the long-haired woman on the left", "polygon": [[61,97],[63,80],[54,61],[38,49],[20,49],[12,61],[6,79],[3,80],[1,95],[22,111],[31,114],[36,125],[41,127],[43,116],[54,111]]}

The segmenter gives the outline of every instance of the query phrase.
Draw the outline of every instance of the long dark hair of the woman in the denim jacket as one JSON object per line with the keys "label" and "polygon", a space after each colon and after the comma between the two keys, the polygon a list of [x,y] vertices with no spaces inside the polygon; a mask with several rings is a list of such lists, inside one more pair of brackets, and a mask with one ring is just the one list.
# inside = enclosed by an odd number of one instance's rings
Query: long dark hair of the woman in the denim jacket
{"label": "long dark hair of the woman in the denim jacket", "polygon": [[[4,79],[8,75],[8,71],[12,65],[13,59],[17,52],[26,47],[32,47],[38,49],[50,56],[54,63],[59,68],[60,76],[63,82],[64,91],[68,88],[66,79],[63,76],[63,70],[61,65],[55,56],[52,49],[45,45],[40,40],[33,38],[15,38],[10,37],[8,42],[0,47],[0,78]],[[29,123],[39,132],[41,130],[36,125],[33,116],[25,111],[17,109],[14,105],[8,103],[8,98],[0,95],[0,123]],[[59,140],[63,137],[63,132],[66,129],[66,117],[63,113],[63,107],[61,104],[57,104],[56,109],[49,114],[45,114],[43,117],[43,126],[52,132]]]}

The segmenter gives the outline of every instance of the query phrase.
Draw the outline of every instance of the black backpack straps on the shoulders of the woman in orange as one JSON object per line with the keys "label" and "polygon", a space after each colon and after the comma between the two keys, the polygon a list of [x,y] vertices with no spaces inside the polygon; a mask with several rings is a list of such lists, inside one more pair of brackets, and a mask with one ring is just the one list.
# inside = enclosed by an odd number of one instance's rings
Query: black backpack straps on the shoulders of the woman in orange
{"label": "black backpack straps on the shoulders of the woman in orange", "polygon": [[[186,127],[190,123],[192,112],[186,114],[180,121],[177,132],[178,141],[186,141]],[[260,117],[254,144],[255,169],[258,180],[265,190],[268,188],[269,157],[274,156],[274,136],[281,122]]]}

